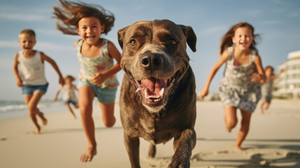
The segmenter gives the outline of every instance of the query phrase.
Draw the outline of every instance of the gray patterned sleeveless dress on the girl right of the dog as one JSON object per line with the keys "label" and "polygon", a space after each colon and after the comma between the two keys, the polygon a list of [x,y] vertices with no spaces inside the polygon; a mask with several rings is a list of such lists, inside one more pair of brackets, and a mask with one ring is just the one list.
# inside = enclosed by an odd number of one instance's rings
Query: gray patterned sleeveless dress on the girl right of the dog
{"label": "gray patterned sleeveless dress on the girl right of the dog", "polygon": [[253,112],[261,98],[259,83],[251,81],[252,74],[257,72],[254,62],[255,50],[252,50],[249,64],[235,66],[233,48],[228,48],[229,60],[220,82],[220,98],[224,106],[235,106],[244,111]]}

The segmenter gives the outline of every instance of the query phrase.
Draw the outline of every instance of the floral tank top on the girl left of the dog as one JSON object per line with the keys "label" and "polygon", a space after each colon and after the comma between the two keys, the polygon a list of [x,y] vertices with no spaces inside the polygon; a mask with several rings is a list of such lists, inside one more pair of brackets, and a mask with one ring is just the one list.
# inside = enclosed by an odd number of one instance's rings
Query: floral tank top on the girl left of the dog
{"label": "floral tank top on the girl left of the dog", "polygon": [[[100,55],[98,57],[88,58],[81,54],[81,46],[83,45],[83,40],[80,39],[77,43],[77,57],[80,64],[79,80],[90,81],[94,73],[106,71],[113,66],[113,58],[108,54],[108,40],[103,39],[105,44],[100,48]],[[119,85],[115,75],[110,76],[101,84],[101,88],[116,88]]]}

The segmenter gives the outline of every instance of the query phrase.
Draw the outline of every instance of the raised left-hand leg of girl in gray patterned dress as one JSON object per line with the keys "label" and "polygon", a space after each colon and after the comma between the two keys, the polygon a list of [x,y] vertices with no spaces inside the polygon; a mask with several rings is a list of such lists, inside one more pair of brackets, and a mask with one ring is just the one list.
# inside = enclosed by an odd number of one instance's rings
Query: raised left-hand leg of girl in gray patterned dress
{"label": "raised left-hand leg of girl in gray patterned dress", "polygon": [[225,116],[224,121],[228,132],[236,127],[236,123],[238,123],[238,118],[236,118],[236,107],[234,106],[225,106],[224,107]]}

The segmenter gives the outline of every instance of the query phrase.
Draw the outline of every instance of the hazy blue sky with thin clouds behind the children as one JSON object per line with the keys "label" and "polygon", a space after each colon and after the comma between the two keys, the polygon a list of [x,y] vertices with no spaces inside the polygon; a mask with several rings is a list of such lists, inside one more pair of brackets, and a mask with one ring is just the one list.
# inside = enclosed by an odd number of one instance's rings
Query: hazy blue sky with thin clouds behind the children
{"label": "hazy blue sky with thin clouds behind the children", "polygon": [[[255,27],[261,39],[257,45],[263,66],[278,66],[287,61],[289,52],[300,50],[300,1],[252,0],[252,1],[202,1],[202,0],[86,0],[103,6],[115,15],[115,25],[107,35],[101,36],[117,43],[117,30],[139,20],[168,19],[178,25],[191,26],[197,35],[197,52],[187,48],[190,66],[195,74],[200,92],[210,69],[219,59],[222,36],[232,25],[248,22]],[[78,76],[79,64],[73,43],[80,36],[64,35],[55,27],[52,18],[55,0],[10,0],[0,2],[0,100],[22,100],[21,88],[17,87],[13,75],[13,57],[21,50],[17,43],[22,29],[36,31],[35,50],[40,50],[55,60],[63,76]],[[217,92],[222,79],[224,65],[210,85],[210,92]],[[117,73],[122,83],[123,71]],[[45,76],[50,83],[42,99],[53,99],[59,89],[56,71],[45,63]],[[74,84],[77,84],[76,83]],[[118,87],[117,99],[120,95]],[[62,95],[60,95],[62,96]]]}

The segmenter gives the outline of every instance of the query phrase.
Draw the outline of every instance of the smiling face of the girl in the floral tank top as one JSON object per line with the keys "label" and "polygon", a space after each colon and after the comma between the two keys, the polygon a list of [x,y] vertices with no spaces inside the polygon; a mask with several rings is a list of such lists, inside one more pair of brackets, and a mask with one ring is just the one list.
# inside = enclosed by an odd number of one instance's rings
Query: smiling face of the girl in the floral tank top
{"label": "smiling face of the girl in the floral tank top", "polygon": [[83,41],[94,45],[99,41],[100,35],[104,31],[104,25],[101,25],[100,20],[95,17],[82,18],[78,22],[77,31]]}

